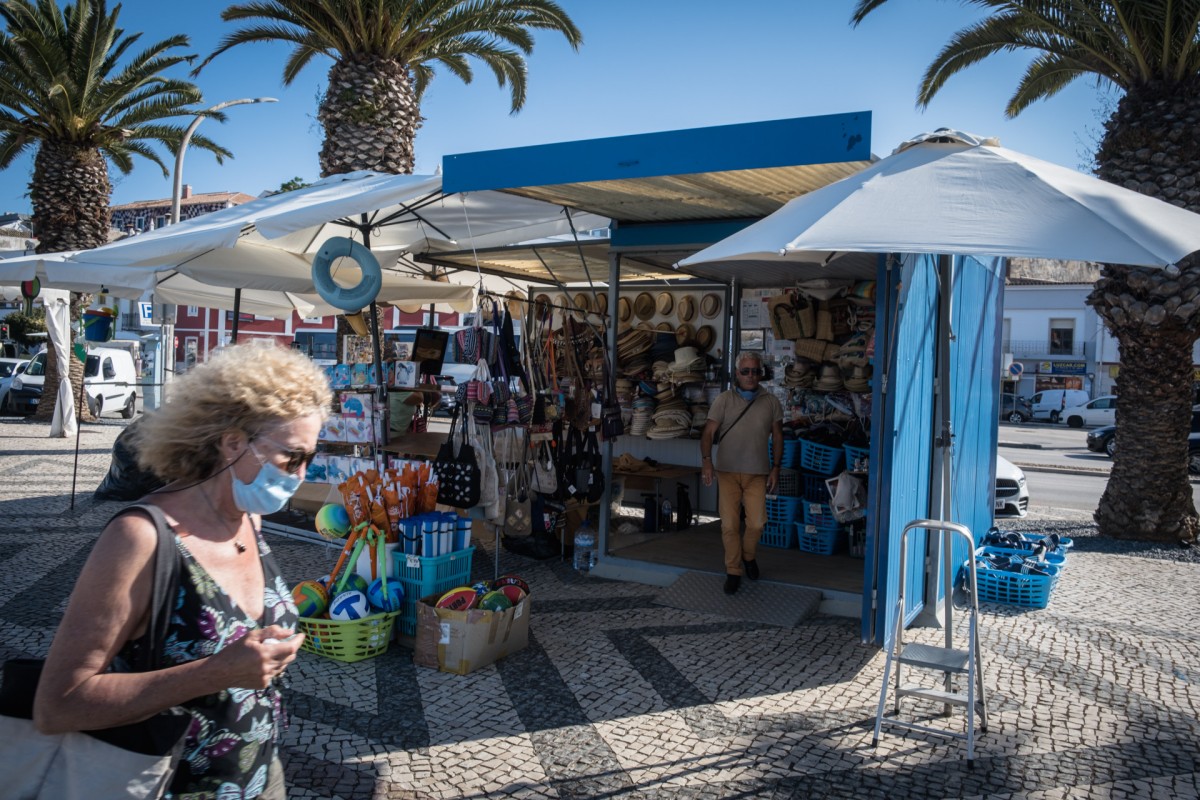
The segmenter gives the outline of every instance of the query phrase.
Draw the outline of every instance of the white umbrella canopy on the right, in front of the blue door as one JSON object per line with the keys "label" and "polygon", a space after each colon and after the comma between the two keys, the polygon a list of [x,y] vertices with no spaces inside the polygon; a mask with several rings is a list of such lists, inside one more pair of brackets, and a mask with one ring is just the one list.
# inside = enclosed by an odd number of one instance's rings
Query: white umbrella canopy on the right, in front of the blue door
{"label": "white umbrella canopy on the right, in front of the blue door", "polygon": [[803,194],[680,266],[954,253],[1166,266],[1200,249],[1200,216],[958,131],[925,133]]}

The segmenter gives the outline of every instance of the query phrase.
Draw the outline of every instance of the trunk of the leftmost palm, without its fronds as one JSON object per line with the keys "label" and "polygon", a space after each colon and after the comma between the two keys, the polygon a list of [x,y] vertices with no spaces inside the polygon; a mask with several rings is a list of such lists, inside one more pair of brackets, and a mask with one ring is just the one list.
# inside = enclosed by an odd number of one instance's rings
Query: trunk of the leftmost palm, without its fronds
{"label": "trunk of the leftmost palm, without its fronds", "polygon": [[[108,164],[98,149],[43,142],[34,160],[34,179],[29,190],[38,253],[90,249],[108,241],[108,198],[113,187],[108,181]],[[89,305],[91,295],[72,294],[72,321],[77,321]],[[52,419],[58,404],[60,381],[54,348],[46,354],[46,367],[36,415],[40,420]],[[85,422],[94,420],[86,403],[79,403],[83,363],[78,359],[71,359],[68,374],[76,415]]]}

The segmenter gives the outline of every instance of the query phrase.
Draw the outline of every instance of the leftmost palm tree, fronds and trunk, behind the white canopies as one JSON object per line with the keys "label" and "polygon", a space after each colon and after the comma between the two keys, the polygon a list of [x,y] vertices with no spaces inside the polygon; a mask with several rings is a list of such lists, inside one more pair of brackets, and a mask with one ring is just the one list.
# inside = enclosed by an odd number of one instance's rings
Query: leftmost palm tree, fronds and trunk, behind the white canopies
{"label": "leftmost palm tree, fronds and trunk, behind the white canopies", "polygon": [[[77,0],[62,8],[55,0],[0,1],[0,169],[36,148],[29,196],[40,253],[106,243],[113,188],[108,163],[127,174],[140,156],[166,176],[167,166],[149,143],[173,151],[184,128],[163,120],[194,116],[186,106],[203,100],[194,84],[163,74],[194,58],[172,53],[186,47],[187,37],[133,53],[142,35],[126,35],[118,26],[119,13],[120,6],[108,13],[104,0]],[[192,145],[218,162],[230,156],[204,137],[194,137]],[[90,295],[73,295],[72,319],[90,303]],[[43,419],[54,411],[59,385],[53,348],[47,357],[38,409]],[[76,386],[83,380],[78,359],[71,359],[71,380]],[[90,419],[78,397],[76,404],[80,419]]]}

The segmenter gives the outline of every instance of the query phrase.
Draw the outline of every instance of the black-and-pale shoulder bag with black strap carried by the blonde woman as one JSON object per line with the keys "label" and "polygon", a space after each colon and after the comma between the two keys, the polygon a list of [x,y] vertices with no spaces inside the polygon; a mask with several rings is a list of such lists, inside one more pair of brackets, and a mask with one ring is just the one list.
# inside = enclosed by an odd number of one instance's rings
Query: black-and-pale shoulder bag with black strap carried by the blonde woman
{"label": "black-and-pale shoulder bag with black strap carried by the blonde woman", "polygon": [[[158,535],[150,624],[134,643],[133,662],[126,664],[118,657],[112,668],[149,672],[162,666],[163,642],[179,585],[179,558],[175,536],[162,511],[151,505],[130,509],[149,515]],[[38,733],[32,712],[43,666],[40,658],[10,658],[4,664],[0,786],[5,796],[37,800],[163,796],[182,754],[191,715],[168,709],[142,722],[103,730]]]}

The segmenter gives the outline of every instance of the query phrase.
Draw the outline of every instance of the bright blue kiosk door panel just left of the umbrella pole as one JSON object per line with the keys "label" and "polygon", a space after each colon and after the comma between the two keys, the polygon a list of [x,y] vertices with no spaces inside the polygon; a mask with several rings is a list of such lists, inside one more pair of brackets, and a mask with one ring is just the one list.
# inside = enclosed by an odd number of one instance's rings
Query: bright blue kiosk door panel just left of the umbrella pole
{"label": "bright blue kiosk door panel just left of the umbrella pole", "polygon": [[[937,355],[937,258],[881,260],[863,640],[890,642],[900,581],[900,534],[929,517]],[[881,377],[881,368],[884,374]],[[925,596],[926,535],[908,536],[905,622]]]}

